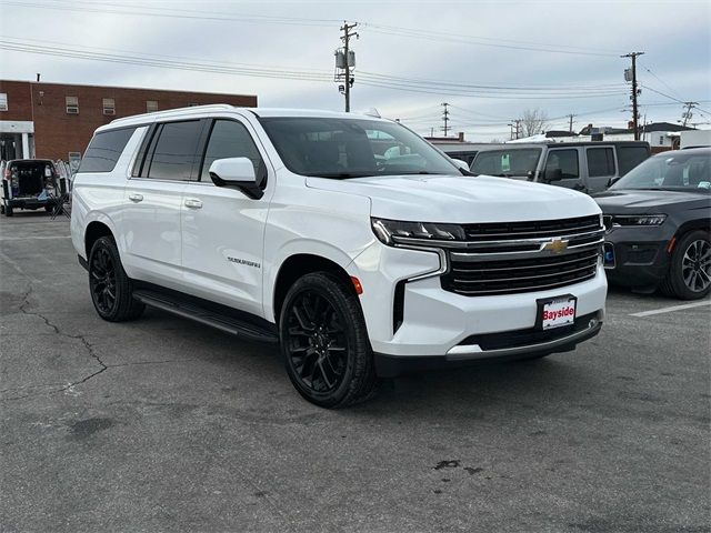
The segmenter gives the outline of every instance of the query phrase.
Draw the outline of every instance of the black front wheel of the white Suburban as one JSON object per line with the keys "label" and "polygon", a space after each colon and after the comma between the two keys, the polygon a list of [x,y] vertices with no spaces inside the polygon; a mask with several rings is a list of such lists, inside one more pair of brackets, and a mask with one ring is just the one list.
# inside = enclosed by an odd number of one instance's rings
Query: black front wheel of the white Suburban
{"label": "black front wheel of the white Suburban", "polygon": [[329,409],[372,395],[373,354],[358,295],[327,272],[300,278],[279,320],[289,379],[304,399]]}

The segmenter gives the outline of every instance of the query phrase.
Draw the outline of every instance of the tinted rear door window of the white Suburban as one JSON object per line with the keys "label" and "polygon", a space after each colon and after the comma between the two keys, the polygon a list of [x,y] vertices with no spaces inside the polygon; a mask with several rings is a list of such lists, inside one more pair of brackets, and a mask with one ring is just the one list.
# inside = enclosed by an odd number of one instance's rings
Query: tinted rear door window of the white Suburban
{"label": "tinted rear door window of the white Suburban", "polygon": [[156,133],[148,178],[189,180],[196,162],[202,123],[199,120],[168,122]]}

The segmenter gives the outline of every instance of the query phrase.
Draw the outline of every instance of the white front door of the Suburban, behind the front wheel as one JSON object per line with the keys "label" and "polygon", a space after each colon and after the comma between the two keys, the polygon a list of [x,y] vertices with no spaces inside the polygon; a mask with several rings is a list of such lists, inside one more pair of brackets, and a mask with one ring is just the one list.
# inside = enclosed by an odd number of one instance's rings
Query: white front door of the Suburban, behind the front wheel
{"label": "white front door of the Suburban, behind the front wheel", "polygon": [[[181,208],[186,285],[197,296],[262,315],[267,188],[273,183],[268,160],[247,121],[218,118],[207,131],[199,179],[187,184]],[[217,187],[209,169],[223,158],[249,158],[267,193],[254,200],[236,189]]]}

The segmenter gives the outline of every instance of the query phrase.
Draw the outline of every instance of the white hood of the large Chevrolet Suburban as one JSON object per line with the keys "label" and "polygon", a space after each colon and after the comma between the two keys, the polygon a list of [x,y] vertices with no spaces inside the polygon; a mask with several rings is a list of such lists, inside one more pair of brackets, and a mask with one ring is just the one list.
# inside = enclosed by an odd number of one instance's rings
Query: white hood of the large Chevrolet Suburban
{"label": "white hood of the large Chevrolet Suburban", "polygon": [[307,178],[314,189],[368,197],[371,215],[421,222],[503,222],[584,217],[595,202],[570,189],[488,175]]}

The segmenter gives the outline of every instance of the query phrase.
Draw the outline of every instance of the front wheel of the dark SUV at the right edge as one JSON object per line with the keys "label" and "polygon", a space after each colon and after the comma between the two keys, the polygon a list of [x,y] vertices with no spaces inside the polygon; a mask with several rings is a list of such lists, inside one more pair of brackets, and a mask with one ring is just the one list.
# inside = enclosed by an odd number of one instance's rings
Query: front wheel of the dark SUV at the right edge
{"label": "front wheel of the dark SUV at the right edge", "polygon": [[681,300],[699,300],[711,291],[711,239],[708,231],[683,235],[671,257],[661,291]]}

